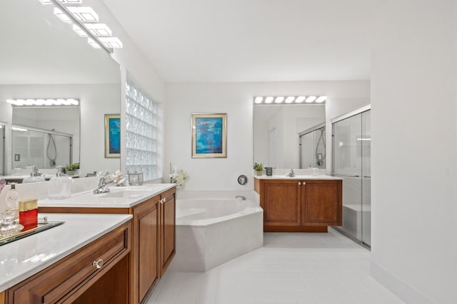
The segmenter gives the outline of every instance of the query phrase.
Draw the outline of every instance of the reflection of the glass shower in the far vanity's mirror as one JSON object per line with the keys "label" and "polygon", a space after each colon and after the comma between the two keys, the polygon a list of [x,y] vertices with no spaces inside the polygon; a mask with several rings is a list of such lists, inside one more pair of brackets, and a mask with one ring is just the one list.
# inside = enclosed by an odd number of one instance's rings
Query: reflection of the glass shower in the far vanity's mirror
{"label": "reflection of the glass shower in the far vanity's mirror", "polygon": [[326,127],[321,123],[298,134],[301,169],[326,168]]}

